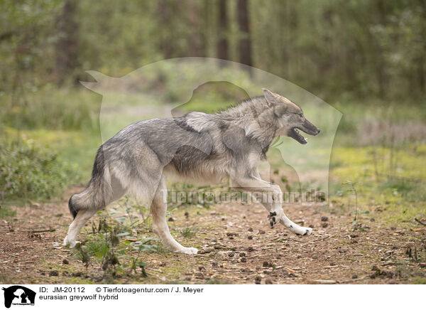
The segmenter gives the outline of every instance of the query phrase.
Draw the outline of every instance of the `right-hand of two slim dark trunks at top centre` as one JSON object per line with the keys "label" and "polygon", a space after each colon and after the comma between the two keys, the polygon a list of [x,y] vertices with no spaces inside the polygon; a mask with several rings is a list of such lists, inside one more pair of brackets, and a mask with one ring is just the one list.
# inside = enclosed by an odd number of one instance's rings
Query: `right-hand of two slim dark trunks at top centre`
{"label": "right-hand of two slim dark trunks at top centre", "polygon": [[[250,38],[250,20],[249,20],[249,1],[238,0],[236,4],[236,19],[239,24],[239,60],[245,65],[253,65],[251,58],[251,38]],[[249,68],[251,72],[251,68]]]}

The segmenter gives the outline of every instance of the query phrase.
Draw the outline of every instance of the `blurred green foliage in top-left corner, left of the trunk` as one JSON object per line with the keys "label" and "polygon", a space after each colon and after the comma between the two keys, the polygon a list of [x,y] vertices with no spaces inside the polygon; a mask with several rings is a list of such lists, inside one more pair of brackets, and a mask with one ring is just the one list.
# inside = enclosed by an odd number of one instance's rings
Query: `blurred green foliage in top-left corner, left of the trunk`
{"label": "blurred green foliage in top-left corner, left of the trunk", "polygon": [[50,80],[58,40],[54,25],[61,4],[60,0],[0,1],[0,95],[11,92],[11,100],[25,103],[28,90]]}

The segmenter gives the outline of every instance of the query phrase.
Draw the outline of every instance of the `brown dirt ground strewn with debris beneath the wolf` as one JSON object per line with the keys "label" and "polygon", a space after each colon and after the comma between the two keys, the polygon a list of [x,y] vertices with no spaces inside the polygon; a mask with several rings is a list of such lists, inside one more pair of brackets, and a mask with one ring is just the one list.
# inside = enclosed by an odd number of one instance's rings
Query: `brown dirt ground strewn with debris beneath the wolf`
{"label": "brown dirt ground strewn with debris beneath the wolf", "polygon": [[[141,252],[146,277],[140,270],[111,276],[94,260],[86,268],[75,250],[62,247],[71,222],[65,199],[16,211],[15,217],[0,220],[0,282],[4,284],[426,283],[426,226],[413,221],[388,227],[376,220],[380,209],[361,217],[354,230],[349,213],[330,207],[286,207],[296,223],[312,225],[314,234],[309,237],[293,235],[283,226],[268,228],[267,213],[260,205],[175,210],[168,222],[172,234],[200,253]],[[98,215],[92,222],[97,221]],[[184,237],[180,232],[187,227],[198,232]],[[79,239],[84,241],[90,232],[91,222]]]}

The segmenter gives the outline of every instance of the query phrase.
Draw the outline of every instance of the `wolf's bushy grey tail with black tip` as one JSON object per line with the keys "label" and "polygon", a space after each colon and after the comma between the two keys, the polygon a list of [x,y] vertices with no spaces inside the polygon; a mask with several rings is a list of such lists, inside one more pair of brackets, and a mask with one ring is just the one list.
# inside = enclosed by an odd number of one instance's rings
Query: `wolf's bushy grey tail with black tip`
{"label": "wolf's bushy grey tail with black tip", "polygon": [[109,186],[109,169],[105,167],[104,151],[101,146],[94,159],[92,179],[89,185],[81,193],[72,195],[70,201],[68,201],[72,218],[75,218],[80,210],[101,210],[104,208],[105,201],[108,200],[105,194],[111,192],[105,186]]}

